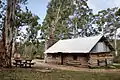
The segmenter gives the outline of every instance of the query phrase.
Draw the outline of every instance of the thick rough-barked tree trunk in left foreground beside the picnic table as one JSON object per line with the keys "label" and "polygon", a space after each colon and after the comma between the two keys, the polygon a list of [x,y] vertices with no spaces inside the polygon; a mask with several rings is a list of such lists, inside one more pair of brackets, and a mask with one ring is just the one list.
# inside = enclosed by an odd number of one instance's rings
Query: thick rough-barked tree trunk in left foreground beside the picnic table
{"label": "thick rough-barked tree trunk in left foreground beside the picnic table", "polygon": [[15,27],[15,5],[16,0],[7,0],[6,19],[5,19],[5,67],[11,67],[13,31]]}

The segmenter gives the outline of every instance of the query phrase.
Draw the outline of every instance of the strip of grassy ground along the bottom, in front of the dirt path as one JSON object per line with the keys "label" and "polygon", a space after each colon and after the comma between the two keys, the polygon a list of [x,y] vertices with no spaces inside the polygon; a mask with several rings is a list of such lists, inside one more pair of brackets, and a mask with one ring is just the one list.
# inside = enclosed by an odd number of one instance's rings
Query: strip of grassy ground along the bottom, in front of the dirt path
{"label": "strip of grassy ground along the bottom, in front of the dirt path", "polygon": [[40,72],[34,69],[1,70],[0,80],[120,80],[120,73],[92,73],[54,70]]}

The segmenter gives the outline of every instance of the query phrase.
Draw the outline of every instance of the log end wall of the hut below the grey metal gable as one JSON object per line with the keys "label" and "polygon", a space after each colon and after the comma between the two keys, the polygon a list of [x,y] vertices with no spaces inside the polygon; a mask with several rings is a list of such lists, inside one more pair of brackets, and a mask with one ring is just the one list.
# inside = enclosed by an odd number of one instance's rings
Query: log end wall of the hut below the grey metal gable
{"label": "log end wall of the hut below the grey metal gable", "polygon": [[92,53],[90,54],[90,66],[107,66],[112,64],[113,54],[111,53]]}

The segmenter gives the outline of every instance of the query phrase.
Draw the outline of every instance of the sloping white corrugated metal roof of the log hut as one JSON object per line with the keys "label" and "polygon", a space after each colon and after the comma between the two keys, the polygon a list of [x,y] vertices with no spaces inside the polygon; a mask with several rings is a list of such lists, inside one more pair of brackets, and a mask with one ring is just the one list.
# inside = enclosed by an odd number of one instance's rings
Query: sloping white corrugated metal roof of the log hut
{"label": "sloping white corrugated metal roof of the log hut", "polygon": [[103,35],[59,40],[45,53],[89,53]]}

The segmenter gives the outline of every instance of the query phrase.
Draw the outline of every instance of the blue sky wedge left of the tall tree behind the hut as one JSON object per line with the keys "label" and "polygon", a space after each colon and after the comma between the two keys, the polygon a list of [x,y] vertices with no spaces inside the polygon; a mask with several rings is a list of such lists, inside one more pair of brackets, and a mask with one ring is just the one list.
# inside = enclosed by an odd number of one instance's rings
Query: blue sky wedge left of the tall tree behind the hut
{"label": "blue sky wedge left of the tall tree behind the hut", "polygon": [[28,9],[40,17],[40,23],[42,23],[45,18],[49,1],[50,0],[28,0]]}

